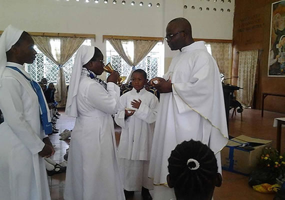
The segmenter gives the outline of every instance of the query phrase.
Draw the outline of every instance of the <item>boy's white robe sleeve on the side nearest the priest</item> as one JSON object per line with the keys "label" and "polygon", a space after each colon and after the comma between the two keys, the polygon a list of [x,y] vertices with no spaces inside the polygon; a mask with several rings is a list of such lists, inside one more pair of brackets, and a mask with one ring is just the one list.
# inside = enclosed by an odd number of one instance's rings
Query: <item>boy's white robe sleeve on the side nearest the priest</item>
{"label": "boy's white robe sleeve on the side nearest the priest", "polygon": [[158,99],[155,96],[151,99],[149,106],[141,101],[133,115],[146,123],[153,123],[156,120],[157,105]]}

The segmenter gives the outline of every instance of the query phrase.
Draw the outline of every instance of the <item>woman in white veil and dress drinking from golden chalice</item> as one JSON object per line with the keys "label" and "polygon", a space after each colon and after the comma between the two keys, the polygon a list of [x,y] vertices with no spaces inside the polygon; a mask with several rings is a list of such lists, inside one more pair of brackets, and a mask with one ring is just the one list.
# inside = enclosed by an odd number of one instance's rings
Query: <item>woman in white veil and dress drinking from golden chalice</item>
{"label": "woman in white veil and dress drinking from golden chalice", "polygon": [[117,72],[107,83],[103,54],[82,45],[72,67],[65,112],[77,117],[72,129],[65,179],[65,200],[121,200],[124,198],[116,157],[111,114],[118,110]]}

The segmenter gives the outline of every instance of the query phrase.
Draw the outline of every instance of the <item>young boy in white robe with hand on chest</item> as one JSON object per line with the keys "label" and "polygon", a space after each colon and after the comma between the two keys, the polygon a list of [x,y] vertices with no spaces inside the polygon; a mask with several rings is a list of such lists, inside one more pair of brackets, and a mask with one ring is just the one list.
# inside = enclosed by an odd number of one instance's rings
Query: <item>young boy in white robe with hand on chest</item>
{"label": "young boy in white robe with hand on chest", "polygon": [[120,97],[121,111],[115,114],[115,122],[122,128],[118,157],[125,195],[141,190],[143,199],[152,199],[153,181],[147,173],[158,99],[144,88],[146,81],[144,70],[132,72],[133,88]]}

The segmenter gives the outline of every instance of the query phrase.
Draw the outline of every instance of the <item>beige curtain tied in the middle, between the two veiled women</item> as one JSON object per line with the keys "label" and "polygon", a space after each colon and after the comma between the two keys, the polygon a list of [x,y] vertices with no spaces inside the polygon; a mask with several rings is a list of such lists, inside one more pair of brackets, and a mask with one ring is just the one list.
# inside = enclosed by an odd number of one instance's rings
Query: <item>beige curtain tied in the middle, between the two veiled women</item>
{"label": "beige curtain tied in the middle, between the two veiled women", "polygon": [[[85,38],[48,36],[32,36],[32,38],[38,49],[58,65],[54,98],[58,102],[58,106],[63,107],[66,103],[67,89],[62,65],[69,60]],[[60,42],[56,42],[56,40]],[[58,43],[60,45],[57,45]]]}

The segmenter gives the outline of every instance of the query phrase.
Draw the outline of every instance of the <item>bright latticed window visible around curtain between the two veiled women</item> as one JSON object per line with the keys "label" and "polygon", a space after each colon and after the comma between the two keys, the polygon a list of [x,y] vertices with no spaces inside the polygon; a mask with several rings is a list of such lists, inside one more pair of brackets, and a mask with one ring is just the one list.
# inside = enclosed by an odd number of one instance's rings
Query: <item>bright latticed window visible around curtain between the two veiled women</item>
{"label": "bright latticed window visible around curtain between the two veiled women", "polygon": [[[51,53],[54,56],[55,53],[60,49],[60,40],[52,39],[50,40]],[[85,39],[82,45],[91,45],[91,39]],[[36,58],[32,64],[26,64],[25,70],[30,74],[32,79],[35,81],[40,81],[41,78],[47,78],[48,82],[56,83],[58,66],[52,62],[48,57],[46,57],[37,47],[34,45],[34,49],[37,52]],[[70,57],[70,59],[63,64],[63,71],[65,76],[65,82],[69,83],[69,78],[71,75],[72,66],[74,63],[76,52]]]}

